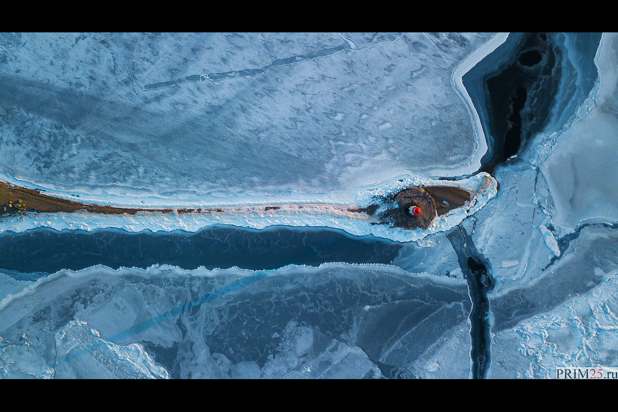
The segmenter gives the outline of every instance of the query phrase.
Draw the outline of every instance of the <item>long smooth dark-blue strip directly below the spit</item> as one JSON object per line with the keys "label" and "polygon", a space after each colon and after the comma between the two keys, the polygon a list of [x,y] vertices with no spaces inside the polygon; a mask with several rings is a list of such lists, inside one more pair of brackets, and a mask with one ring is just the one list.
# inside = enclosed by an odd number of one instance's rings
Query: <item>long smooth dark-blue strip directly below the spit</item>
{"label": "long smooth dark-blue strip directly below the spit", "polygon": [[[264,230],[211,226],[198,232],[132,233],[122,229],[33,229],[0,234],[0,269],[21,274],[169,264],[182,269],[276,269],[326,262],[391,263],[402,243],[372,235],[355,237],[321,227],[273,226]],[[18,277],[21,277],[17,275]],[[32,275],[30,275],[32,278]],[[29,279],[30,279],[29,278]]]}

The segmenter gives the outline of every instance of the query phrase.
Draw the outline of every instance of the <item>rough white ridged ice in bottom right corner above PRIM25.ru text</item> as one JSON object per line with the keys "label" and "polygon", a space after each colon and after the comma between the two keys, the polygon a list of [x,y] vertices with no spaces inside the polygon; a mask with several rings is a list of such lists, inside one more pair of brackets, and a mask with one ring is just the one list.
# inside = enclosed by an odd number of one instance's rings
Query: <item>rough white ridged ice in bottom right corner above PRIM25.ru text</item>
{"label": "rough white ridged ice in bottom right corner above PRIM25.ru text", "polygon": [[[601,274],[603,275],[603,274]],[[590,293],[493,337],[491,377],[555,378],[557,367],[618,362],[618,279],[605,275]]]}

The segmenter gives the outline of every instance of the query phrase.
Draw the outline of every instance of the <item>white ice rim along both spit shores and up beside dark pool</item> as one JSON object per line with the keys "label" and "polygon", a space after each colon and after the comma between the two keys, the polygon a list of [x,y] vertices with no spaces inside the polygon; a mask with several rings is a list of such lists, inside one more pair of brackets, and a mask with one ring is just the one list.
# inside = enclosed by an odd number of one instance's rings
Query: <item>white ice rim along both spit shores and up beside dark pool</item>
{"label": "white ice rim along both spit shores and up beside dark pool", "polygon": [[[464,169],[470,169],[470,164],[476,166],[472,169],[478,170],[480,159],[487,151],[487,142],[480,125],[478,113],[472,104],[472,100],[462,82],[462,77],[468,70],[474,67],[483,58],[488,56],[500,44],[504,43],[508,33],[500,33],[493,36],[490,40],[482,44],[478,49],[468,55],[451,74],[451,85],[455,88],[458,95],[467,106],[468,113],[473,123],[473,132],[476,137],[476,150],[473,158],[468,159]],[[229,224],[239,227],[251,227],[263,229],[271,225],[289,226],[312,226],[312,227],[331,227],[342,229],[352,235],[375,235],[376,237],[387,238],[399,242],[410,242],[420,240],[431,233],[449,230],[459,224],[465,217],[475,213],[485,206],[485,204],[497,193],[497,183],[491,176],[479,174],[468,179],[457,181],[446,181],[431,179],[426,176],[454,175],[457,170],[451,169],[428,169],[420,174],[410,170],[397,168],[390,172],[376,172],[375,175],[368,176],[374,181],[386,175],[396,175],[390,179],[384,179],[378,183],[361,184],[345,190],[334,190],[328,193],[297,193],[287,192],[278,195],[263,194],[242,194],[242,195],[223,195],[204,196],[193,192],[177,192],[174,195],[163,195],[153,193],[150,190],[123,189],[121,187],[99,187],[91,188],[86,185],[75,185],[72,190],[61,190],[52,183],[48,185],[37,184],[27,180],[15,179],[9,174],[0,172],[0,180],[4,180],[12,185],[25,187],[33,190],[43,191],[46,195],[56,198],[79,201],[80,203],[100,204],[104,206],[119,206],[124,208],[234,208],[234,212],[227,212],[215,215],[203,215],[197,213],[177,214],[161,212],[138,212],[133,216],[127,214],[109,216],[106,214],[88,214],[81,212],[55,214],[39,213],[28,214],[24,220],[17,217],[3,219],[0,222],[0,232],[24,232],[35,227],[51,227],[56,230],[62,229],[83,229],[93,230],[98,228],[119,228],[130,232],[142,230],[152,230],[153,232],[182,229],[188,232],[195,232],[203,227],[214,224]],[[460,168],[461,169],[461,168]],[[459,170],[463,172],[465,170]],[[463,173],[462,173],[463,174]],[[370,224],[363,219],[360,214],[349,212],[344,208],[329,208],[328,206],[366,206],[374,196],[395,193],[403,188],[416,185],[448,185],[460,187],[464,190],[477,193],[467,206],[455,209],[443,216],[434,219],[431,227],[427,230],[415,229],[404,230],[386,227],[384,225]],[[298,208],[286,208],[286,205],[303,206],[302,211]],[[277,211],[256,211],[251,206],[276,205],[281,206]],[[85,216],[88,216],[85,219]],[[358,219],[361,217],[361,219]]]}

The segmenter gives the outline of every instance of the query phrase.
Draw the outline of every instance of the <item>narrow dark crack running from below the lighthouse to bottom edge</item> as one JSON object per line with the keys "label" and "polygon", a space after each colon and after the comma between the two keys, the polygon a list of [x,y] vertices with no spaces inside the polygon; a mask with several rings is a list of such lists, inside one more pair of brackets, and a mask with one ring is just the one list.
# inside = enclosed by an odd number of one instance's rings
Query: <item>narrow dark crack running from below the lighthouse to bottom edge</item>
{"label": "narrow dark crack running from below the lighthouse to bottom edge", "polygon": [[446,237],[457,254],[457,261],[468,283],[468,293],[472,300],[472,311],[470,311],[472,378],[484,379],[491,361],[489,335],[491,325],[487,295],[493,288],[493,282],[488,270],[489,262],[478,253],[472,237],[463,227],[455,227]]}

